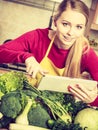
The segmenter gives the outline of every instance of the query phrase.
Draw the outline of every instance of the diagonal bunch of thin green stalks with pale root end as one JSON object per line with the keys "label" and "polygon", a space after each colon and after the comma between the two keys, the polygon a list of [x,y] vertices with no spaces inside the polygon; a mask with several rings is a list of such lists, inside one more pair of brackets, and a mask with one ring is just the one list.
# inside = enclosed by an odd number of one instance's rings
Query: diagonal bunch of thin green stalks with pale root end
{"label": "diagonal bunch of thin green stalks with pale root end", "polygon": [[[26,83],[26,86],[30,87],[28,82]],[[62,107],[62,104],[58,100],[57,100],[57,102],[55,100],[51,100],[50,98],[48,98],[46,96],[45,93],[43,93],[42,91],[38,90],[35,87],[30,87],[30,88],[31,88],[31,91],[36,93],[38,100],[50,109],[51,114],[52,114],[52,116],[54,117],[55,120],[57,118],[60,118],[63,121],[65,121],[66,123],[71,122],[71,116]]]}

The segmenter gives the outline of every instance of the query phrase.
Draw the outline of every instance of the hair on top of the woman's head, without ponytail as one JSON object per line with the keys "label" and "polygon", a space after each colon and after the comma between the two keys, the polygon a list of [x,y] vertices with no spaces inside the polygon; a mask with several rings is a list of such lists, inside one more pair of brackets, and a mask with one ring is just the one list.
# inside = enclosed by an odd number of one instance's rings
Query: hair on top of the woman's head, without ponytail
{"label": "hair on top of the woman's head, without ponytail", "polygon": [[56,14],[53,17],[54,20],[57,20],[69,7],[74,11],[82,13],[86,17],[86,23],[88,22],[89,8],[81,0],[63,0],[57,8]]}

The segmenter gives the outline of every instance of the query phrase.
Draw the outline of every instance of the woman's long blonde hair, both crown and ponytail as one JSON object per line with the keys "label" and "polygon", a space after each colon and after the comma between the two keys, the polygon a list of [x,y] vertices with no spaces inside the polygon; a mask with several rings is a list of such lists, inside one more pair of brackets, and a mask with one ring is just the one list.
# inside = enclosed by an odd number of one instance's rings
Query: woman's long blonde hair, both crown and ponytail
{"label": "woman's long blonde hair, both crown and ponytail", "polygon": [[[63,0],[58,6],[58,10],[54,15],[54,20],[57,20],[68,7],[74,11],[82,13],[86,17],[86,24],[88,23],[89,9],[80,0]],[[65,63],[64,76],[76,78],[81,77],[81,58],[83,53],[87,53],[88,50],[89,41],[86,37],[80,36],[70,48],[70,52]]]}

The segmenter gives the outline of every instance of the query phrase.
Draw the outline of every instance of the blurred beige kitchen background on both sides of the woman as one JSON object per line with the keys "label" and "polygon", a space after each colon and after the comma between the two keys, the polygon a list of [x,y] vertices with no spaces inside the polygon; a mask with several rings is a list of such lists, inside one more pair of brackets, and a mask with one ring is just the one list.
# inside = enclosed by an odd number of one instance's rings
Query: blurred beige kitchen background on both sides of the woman
{"label": "blurred beige kitchen background on both sides of the woman", "polygon": [[[0,0],[0,43],[19,35],[50,26],[51,16],[62,0]],[[83,0],[90,8],[86,36],[98,48],[98,0]],[[52,28],[53,25],[51,26]]]}

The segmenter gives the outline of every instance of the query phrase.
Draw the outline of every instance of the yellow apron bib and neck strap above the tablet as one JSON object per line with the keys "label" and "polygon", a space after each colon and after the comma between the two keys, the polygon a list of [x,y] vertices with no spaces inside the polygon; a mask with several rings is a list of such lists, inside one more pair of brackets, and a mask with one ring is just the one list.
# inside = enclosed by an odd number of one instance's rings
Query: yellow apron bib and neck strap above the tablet
{"label": "yellow apron bib and neck strap above the tablet", "polygon": [[40,65],[41,65],[44,69],[46,69],[46,70],[49,72],[48,74],[50,74],[50,75],[63,76],[63,73],[64,73],[64,69],[65,69],[65,68],[61,68],[61,69],[60,69],[60,68],[57,68],[57,67],[54,65],[54,63],[48,58],[48,54],[49,54],[50,49],[51,49],[51,47],[52,47],[52,45],[53,45],[55,36],[56,36],[56,35],[54,35],[54,37],[52,38],[52,40],[51,40],[51,42],[50,42],[50,44],[49,44],[48,50],[47,50],[47,52],[46,52],[44,58],[42,59]]}

